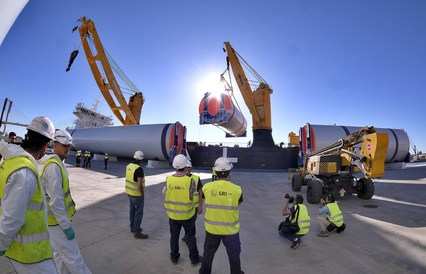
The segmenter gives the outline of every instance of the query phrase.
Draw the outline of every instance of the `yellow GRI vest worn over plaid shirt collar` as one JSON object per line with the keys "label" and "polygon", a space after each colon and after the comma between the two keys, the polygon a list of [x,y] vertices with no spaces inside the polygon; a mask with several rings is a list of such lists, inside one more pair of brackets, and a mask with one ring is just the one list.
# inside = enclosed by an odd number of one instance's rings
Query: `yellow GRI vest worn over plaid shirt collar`
{"label": "yellow GRI vest worn over plaid shirt collar", "polygon": [[170,175],[166,179],[167,194],[164,207],[173,220],[188,220],[195,214],[195,203],[189,198],[191,178]]}

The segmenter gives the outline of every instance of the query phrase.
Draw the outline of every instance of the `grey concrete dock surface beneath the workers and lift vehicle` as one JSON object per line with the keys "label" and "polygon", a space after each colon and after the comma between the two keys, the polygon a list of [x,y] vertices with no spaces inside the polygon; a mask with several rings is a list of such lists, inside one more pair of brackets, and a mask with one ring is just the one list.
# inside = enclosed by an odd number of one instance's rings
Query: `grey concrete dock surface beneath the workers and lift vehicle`
{"label": "grey concrete dock surface beneath the workers and lift vehicle", "polygon": [[[180,241],[177,265],[170,261],[170,231],[164,210],[164,194],[172,168],[144,168],[146,192],[141,227],[147,240],[136,240],[129,228],[129,199],[124,193],[127,163],[92,160],[91,168],[75,167],[66,160],[70,190],[77,212],[72,226],[84,262],[92,273],[198,273],[192,267],[188,248]],[[42,165],[39,165],[41,170]],[[211,181],[210,171],[193,170],[202,183]],[[375,183],[375,195],[361,200],[356,195],[337,202],[347,225],[328,237],[318,237],[318,204],[305,201],[311,228],[302,243],[278,235],[285,219],[284,195],[302,194],[291,190],[287,173],[232,172],[231,181],[241,186],[239,207],[241,268],[246,274],[281,273],[426,273],[426,165],[386,170]],[[374,205],[377,208],[364,206]],[[200,255],[204,245],[204,212],[196,221]],[[323,216],[323,215],[322,215]],[[183,229],[181,237],[183,237]],[[0,257],[0,274],[16,273],[9,259]],[[225,247],[221,244],[213,261],[214,274],[230,273]]]}

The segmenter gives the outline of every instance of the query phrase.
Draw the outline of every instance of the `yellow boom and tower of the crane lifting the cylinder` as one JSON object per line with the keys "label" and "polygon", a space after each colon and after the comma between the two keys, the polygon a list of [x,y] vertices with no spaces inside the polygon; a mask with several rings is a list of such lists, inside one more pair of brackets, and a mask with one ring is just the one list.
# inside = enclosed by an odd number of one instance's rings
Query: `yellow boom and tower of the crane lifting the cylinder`
{"label": "yellow boom and tower of the crane lifting the cylinder", "polygon": [[229,42],[224,42],[224,44],[236,83],[253,117],[253,131],[256,129],[268,129],[272,131],[270,97],[272,89],[267,83],[260,83],[259,87],[255,91],[252,91],[235,50]]}

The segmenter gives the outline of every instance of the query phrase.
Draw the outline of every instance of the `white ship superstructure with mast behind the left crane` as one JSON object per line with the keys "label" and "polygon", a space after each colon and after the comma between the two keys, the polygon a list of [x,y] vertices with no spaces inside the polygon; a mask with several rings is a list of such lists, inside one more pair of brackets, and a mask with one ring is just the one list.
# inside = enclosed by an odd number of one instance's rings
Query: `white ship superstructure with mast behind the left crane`
{"label": "white ship superstructure with mast behind the left crane", "polygon": [[95,99],[95,103],[90,104],[88,108],[84,103],[78,103],[75,110],[72,111],[78,119],[74,121],[74,128],[101,128],[104,126],[112,126],[112,116],[101,114],[97,111],[101,96]]}

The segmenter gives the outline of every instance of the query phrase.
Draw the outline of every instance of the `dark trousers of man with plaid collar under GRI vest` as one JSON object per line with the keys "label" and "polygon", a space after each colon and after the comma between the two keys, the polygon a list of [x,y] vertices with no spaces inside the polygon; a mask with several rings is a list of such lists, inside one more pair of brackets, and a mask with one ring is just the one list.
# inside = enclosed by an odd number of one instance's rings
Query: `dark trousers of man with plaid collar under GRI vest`
{"label": "dark trousers of man with plaid collar under GRI vest", "polygon": [[178,260],[181,254],[179,253],[179,234],[182,226],[185,230],[185,240],[189,249],[189,258],[191,263],[196,263],[199,260],[199,252],[197,248],[197,238],[195,237],[195,220],[196,214],[188,220],[173,220],[169,218],[170,225],[170,258]]}

